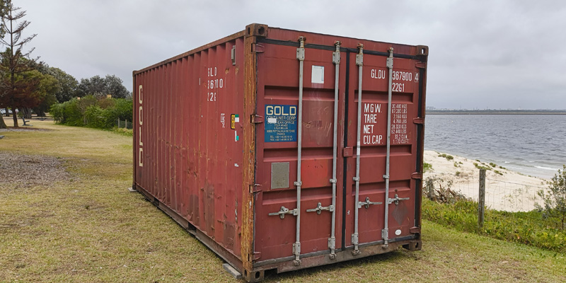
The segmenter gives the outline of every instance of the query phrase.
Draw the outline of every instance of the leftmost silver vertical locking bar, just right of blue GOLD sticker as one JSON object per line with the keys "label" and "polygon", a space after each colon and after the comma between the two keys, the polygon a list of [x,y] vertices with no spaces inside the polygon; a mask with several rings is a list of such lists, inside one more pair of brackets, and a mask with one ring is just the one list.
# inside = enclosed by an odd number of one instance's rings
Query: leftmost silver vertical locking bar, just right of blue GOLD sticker
{"label": "leftmost silver vertical locking bar, just right of blue GOLD sticker", "polygon": [[301,260],[301,154],[303,145],[303,68],[305,61],[305,40],[299,37],[299,48],[296,49],[296,59],[299,60],[299,117],[297,117],[297,157],[296,157],[296,241],[293,244],[293,254],[295,255],[294,265],[300,265]]}

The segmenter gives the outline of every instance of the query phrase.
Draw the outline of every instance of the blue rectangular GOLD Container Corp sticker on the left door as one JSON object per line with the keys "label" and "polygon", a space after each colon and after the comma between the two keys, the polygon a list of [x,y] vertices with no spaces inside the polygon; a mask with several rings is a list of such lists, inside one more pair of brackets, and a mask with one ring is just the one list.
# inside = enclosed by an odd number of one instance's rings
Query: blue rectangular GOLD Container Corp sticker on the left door
{"label": "blue rectangular GOLD Container Corp sticker on the left door", "polygon": [[265,142],[296,141],[296,105],[265,105]]}

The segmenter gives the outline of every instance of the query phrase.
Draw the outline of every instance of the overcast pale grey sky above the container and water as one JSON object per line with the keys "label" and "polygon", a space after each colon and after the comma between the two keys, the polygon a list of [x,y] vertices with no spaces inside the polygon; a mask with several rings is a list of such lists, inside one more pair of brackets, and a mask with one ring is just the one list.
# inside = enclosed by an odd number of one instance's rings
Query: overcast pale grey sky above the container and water
{"label": "overcast pale grey sky above the container and water", "polygon": [[26,48],[80,81],[132,71],[250,23],[428,45],[427,106],[566,109],[566,1],[13,0]]}

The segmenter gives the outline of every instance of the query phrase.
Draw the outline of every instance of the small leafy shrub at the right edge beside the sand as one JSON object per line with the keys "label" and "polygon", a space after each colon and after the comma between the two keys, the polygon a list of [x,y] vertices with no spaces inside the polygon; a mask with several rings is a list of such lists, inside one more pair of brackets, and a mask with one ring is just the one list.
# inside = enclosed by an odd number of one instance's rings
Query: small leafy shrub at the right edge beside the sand
{"label": "small leafy shrub at the right edge beside the sand", "polygon": [[562,230],[566,224],[566,165],[562,165],[562,170],[548,182],[548,192],[538,191],[538,196],[543,200],[543,205],[535,204],[536,208],[543,212],[546,218],[560,220]]}

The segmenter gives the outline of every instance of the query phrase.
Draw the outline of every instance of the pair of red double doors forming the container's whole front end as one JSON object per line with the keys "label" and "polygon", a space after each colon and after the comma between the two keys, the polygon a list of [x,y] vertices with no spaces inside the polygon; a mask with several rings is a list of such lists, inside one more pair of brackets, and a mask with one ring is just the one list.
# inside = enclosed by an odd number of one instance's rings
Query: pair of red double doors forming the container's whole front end
{"label": "pair of red double doors forming the container's whole front end", "polygon": [[301,256],[332,259],[363,243],[412,238],[421,121],[415,59],[392,58],[390,71],[383,51],[361,61],[352,48],[260,43],[256,260],[300,264]]}

